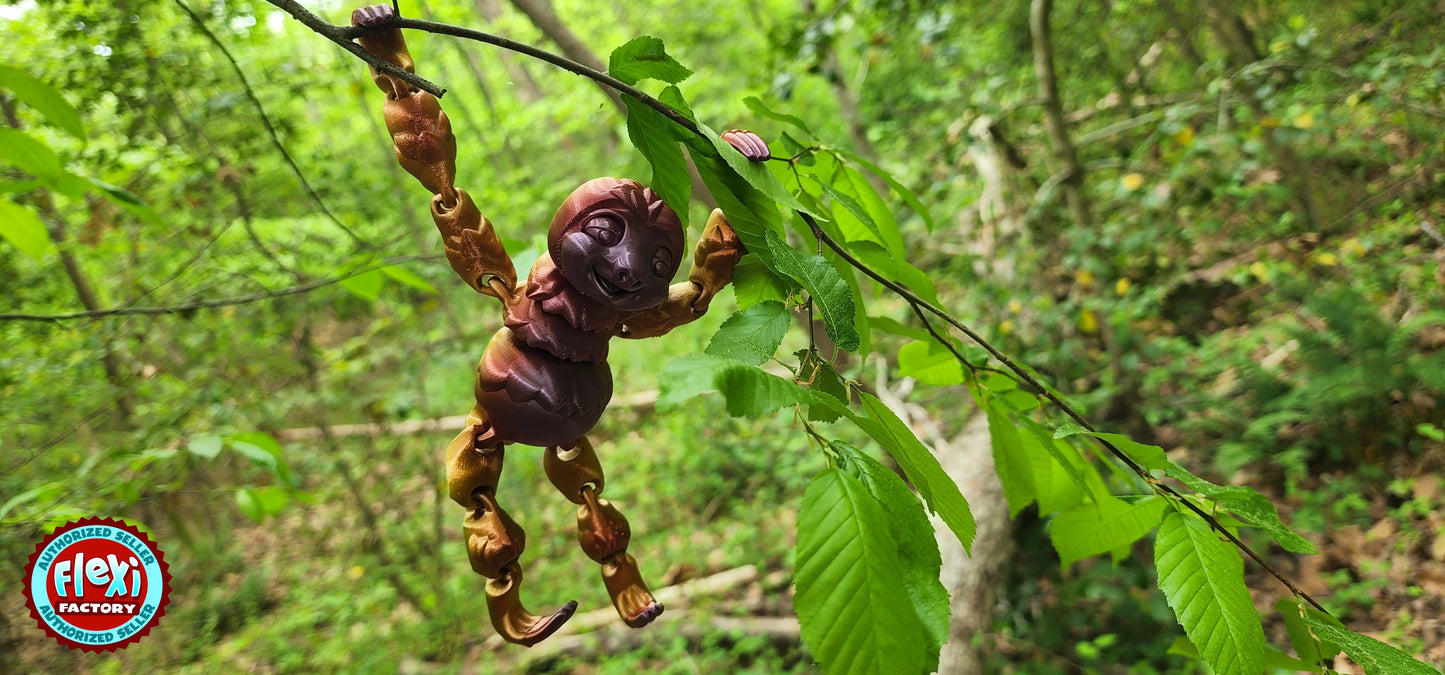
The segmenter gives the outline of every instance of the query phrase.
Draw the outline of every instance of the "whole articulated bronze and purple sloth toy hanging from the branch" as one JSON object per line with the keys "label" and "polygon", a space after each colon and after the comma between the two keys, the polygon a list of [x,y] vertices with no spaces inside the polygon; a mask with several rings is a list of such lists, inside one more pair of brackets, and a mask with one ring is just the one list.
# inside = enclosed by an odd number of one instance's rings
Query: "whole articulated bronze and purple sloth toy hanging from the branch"
{"label": "whole articulated bronze and purple sloth toy hanging from the branch", "polygon": [[[381,26],[393,17],[392,7],[381,4],[353,12],[351,23]],[[412,72],[399,29],[358,42]],[[496,494],[507,442],[546,448],[546,476],[579,504],[578,541],[603,565],[617,613],[629,626],[646,626],[662,613],[662,604],[627,554],[627,519],[601,499],[603,468],[587,439],[613,395],[607,344],[613,337],[662,335],[701,317],[731,280],[743,246],[722,212],[712,211],[692,273],[669,288],[683,254],[678,214],[636,181],[598,178],[562,202],[548,231],[548,253],[519,286],[491,224],[471,197],[452,185],[457,139],[436,98],[376,68],[371,78],[386,93],[386,126],[397,160],[435,195],[432,218],[452,269],[506,308],[506,327],[477,366],[477,403],[467,428],[447,448],[447,484],[451,499],[468,509],[467,554],[473,569],[490,580],[493,626],[507,640],[530,646],[577,609],[569,601],[551,616],[533,616],[522,606],[525,535],[497,506]],[[767,159],[767,146],[756,134],[730,132],[725,137],[749,159]]]}

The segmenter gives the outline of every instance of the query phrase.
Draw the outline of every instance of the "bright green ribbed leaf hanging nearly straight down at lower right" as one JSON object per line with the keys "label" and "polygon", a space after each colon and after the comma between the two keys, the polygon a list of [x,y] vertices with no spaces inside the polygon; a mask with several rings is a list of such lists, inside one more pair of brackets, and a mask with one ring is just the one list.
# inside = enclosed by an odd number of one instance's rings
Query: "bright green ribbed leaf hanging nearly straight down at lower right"
{"label": "bright green ribbed leaf hanging nearly straight down at lower right", "polygon": [[1215,674],[1263,672],[1264,629],[1234,546],[1204,520],[1170,510],[1155,541],[1155,568],[1165,600]]}

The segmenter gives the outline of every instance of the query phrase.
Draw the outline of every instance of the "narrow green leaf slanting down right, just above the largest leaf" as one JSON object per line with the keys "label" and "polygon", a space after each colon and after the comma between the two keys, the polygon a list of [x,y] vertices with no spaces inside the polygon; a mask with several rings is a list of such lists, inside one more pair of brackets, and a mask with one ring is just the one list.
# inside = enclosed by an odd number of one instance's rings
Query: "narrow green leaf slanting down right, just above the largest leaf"
{"label": "narrow green leaf slanting down right, just above the largest leaf", "polygon": [[842,413],[897,460],[899,465],[903,467],[903,474],[923,497],[929,510],[944,519],[964,549],[970,549],[974,543],[977,525],[968,509],[968,500],[958,491],[958,484],[948,477],[944,467],[938,464],[938,458],[919,442],[913,431],[877,396],[860,390],[858,399],[866,416],[853,409],[844,409]]}

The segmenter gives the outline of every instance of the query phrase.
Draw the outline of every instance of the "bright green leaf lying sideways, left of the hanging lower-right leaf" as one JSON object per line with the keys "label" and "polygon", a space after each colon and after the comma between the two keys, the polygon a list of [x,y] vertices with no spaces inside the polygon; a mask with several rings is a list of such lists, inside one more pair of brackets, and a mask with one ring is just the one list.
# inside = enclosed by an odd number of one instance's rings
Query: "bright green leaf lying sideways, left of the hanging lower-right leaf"
{"label": "bright green leaf lying sideways, left of the hanging lower-right leaf", "polygon": [[1104,496],[1098,503],[1085,503],[1061,512],[1049,522],[1049,541],[1059,552],[1064,569],[1095,555],[1133,545],[1159,525],[1165,500],[1144,497],[1136,503]]}

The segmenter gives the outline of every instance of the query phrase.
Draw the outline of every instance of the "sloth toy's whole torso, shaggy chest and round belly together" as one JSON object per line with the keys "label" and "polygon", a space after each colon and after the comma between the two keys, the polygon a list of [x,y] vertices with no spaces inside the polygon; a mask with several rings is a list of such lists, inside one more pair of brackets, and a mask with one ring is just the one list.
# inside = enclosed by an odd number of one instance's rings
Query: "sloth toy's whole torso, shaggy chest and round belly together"
{"label": "sloth toy's whole torso, shaggy chest and round belly together", "polygon": [[543,253],[477,367],[477,402],[497,437],[548,447],[585,435],[613,397],[607,343],[618,319]]}

